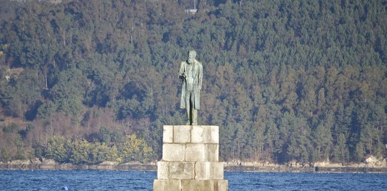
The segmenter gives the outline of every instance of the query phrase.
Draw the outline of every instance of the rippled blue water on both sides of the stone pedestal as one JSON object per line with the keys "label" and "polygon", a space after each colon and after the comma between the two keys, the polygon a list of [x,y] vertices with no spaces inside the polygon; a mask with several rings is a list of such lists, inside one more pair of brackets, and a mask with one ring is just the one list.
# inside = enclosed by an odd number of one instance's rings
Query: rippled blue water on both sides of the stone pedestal
{"label": "rippled blue water on both sides of the stone pedestal", "polygon": [[[152,171],[0,170],[0,190],[152,190]],[[387,190],[387,174],[225,172],[229,190]]]}

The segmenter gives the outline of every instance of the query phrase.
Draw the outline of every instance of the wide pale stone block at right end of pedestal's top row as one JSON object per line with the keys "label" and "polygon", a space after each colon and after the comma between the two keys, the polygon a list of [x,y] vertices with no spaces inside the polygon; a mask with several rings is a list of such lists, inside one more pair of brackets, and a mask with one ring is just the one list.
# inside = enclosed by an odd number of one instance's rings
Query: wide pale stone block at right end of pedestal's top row
{"label": "wide pale stone block at right end of pedestal's top row", "polygon": [[191,143],[219,144],[219,127],[192,126]]}

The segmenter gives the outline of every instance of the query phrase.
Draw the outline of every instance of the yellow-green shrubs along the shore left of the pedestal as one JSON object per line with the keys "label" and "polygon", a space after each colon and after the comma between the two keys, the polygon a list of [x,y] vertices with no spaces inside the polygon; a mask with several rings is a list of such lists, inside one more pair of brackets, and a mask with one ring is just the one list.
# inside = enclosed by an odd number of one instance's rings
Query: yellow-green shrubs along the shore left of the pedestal
{"label": "yellow-green shrubs along the shore left of the pedestal", "polygon": [[96,164],[103,161],[147,162],[150,160],[151,153],[152,148],[143,139],[137,138],[136,134],[129,136],[127,141],[119,146],[54,136],[45,148],[47,158],[72,164]]}

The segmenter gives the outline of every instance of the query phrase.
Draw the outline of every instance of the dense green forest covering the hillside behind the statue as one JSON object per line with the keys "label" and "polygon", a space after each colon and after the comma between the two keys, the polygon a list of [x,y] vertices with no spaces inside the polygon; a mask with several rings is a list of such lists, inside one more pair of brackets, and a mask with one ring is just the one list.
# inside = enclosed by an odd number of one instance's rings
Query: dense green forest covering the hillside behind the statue
{"label": "dense green forest covering the hillside behind the statue", "polygon": [[387,157],[387,1],[196,3],[0,1],[0,161],[159,159],[190,49],[221,160]]}

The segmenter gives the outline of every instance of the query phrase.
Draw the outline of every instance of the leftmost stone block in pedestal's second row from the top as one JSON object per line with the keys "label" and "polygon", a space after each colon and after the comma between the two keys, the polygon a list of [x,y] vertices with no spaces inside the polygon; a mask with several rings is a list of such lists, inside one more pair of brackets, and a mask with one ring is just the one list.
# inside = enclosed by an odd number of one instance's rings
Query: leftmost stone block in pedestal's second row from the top
{"label": "leftmost stone block in pedestal's second row from the top", "polygon": [[165,161],[183,161],[185,157],[184,144],[163,144],[162,159]]}

